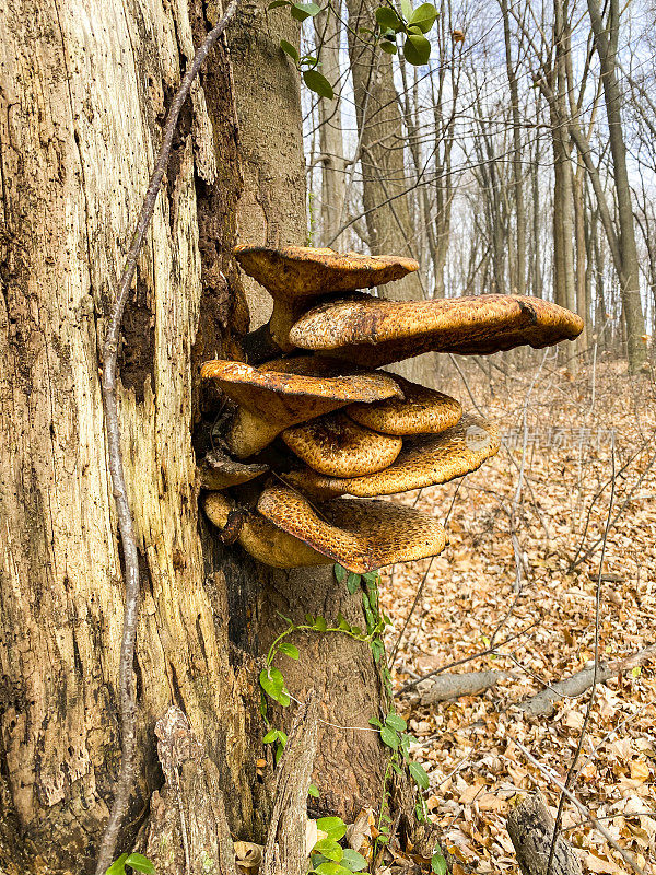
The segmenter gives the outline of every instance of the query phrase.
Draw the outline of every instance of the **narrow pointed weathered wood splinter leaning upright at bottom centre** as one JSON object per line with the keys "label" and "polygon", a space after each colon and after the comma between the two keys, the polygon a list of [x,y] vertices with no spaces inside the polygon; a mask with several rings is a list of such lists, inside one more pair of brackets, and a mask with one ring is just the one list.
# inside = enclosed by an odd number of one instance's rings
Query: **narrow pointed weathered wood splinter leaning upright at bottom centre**
{"label": "narrow pointed weathered wood splinter leaning upright at bottom centre", "polygon": [[260,875],[305,875],[308,870],[307,788],[317,751],[317,697],[298,709],[278,766],[273,813]]}

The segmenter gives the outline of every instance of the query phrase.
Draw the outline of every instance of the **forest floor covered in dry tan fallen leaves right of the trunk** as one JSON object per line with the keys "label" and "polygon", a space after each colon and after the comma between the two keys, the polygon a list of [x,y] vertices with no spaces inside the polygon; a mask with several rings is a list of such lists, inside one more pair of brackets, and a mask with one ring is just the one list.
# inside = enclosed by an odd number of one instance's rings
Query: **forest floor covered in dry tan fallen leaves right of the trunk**
{"label": "forest floor covered in dry tan fallen leaves right of the trunk", "polygon": [[[555,815],[554,779],[567,779],[583,735],[572,791],[641,868],[656,872],[656,658],[598,685],[588,720],[590,689],[551,716],[517,708],[589,665],[596,640],[602,661],[656,643],[654,375],[630,378],[602,357],[573,374],[552,353],[483,364],[468,361],[438,388],[466,409],[476,399],[499,423],[502,448],[460,481],[405,497],[447,517],[450,544],[432,561],[390,570],[382,587],[393,652],[423,586],[394,678],[418,739],[413,757],[430,775],[430,817],[467,871],[518,873],[508,807],[540,789]],[[468,662],[455,672],[507,676],[437,704],[400,692],[459,660]],[[584,872],[629,871],[571,802],[562,824]]]}

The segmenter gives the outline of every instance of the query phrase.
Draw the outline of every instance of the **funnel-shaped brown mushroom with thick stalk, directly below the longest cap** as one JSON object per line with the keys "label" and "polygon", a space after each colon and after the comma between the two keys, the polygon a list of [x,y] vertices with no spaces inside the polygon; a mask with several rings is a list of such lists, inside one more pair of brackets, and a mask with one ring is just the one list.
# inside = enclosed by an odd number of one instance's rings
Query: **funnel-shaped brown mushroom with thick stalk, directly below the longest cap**
{"label": "funnel-shaped brown mushroom with thick stalk, directly below the longest cap", "polygon": [[211,361],[203,380],[215,380],[239,406],[225,442],[238,458],[257,453],[289,425],[337,410],[352,401],[401,397],[389,374],[340,365],[313,355],[281,359],[260,368]]}

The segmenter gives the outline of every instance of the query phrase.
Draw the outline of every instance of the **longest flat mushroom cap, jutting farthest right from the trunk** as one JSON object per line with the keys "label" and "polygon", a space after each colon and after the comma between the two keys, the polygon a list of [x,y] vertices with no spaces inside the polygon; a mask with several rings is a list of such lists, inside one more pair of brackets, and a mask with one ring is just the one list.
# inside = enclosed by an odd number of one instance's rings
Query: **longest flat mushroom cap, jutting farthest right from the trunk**
{"label": "longest flat mushroom cap, jutting farthest right from the trunk", "polygon": [[573,340],[582,330],[579,316],[540,298],[387,301],[358,295],[311,310],[292,327],[289,340],[378,368],[431,351],[484,355],[526,343],[539,349]]}

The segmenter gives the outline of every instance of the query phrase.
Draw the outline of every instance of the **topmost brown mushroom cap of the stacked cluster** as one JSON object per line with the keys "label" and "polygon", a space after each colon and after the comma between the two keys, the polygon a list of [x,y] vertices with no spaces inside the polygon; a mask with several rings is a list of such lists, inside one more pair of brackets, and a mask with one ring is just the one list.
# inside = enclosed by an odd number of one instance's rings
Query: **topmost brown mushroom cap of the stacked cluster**
{"label": "topmost brown mushroom cap of the stacked cluster", "polygon": [[399,280],[419,268],[412,258],[391,255],[340,255],[333,249],[307,246],[237,246],[235,257],[242,268],[274,299],[297,301],[371,289]]}

